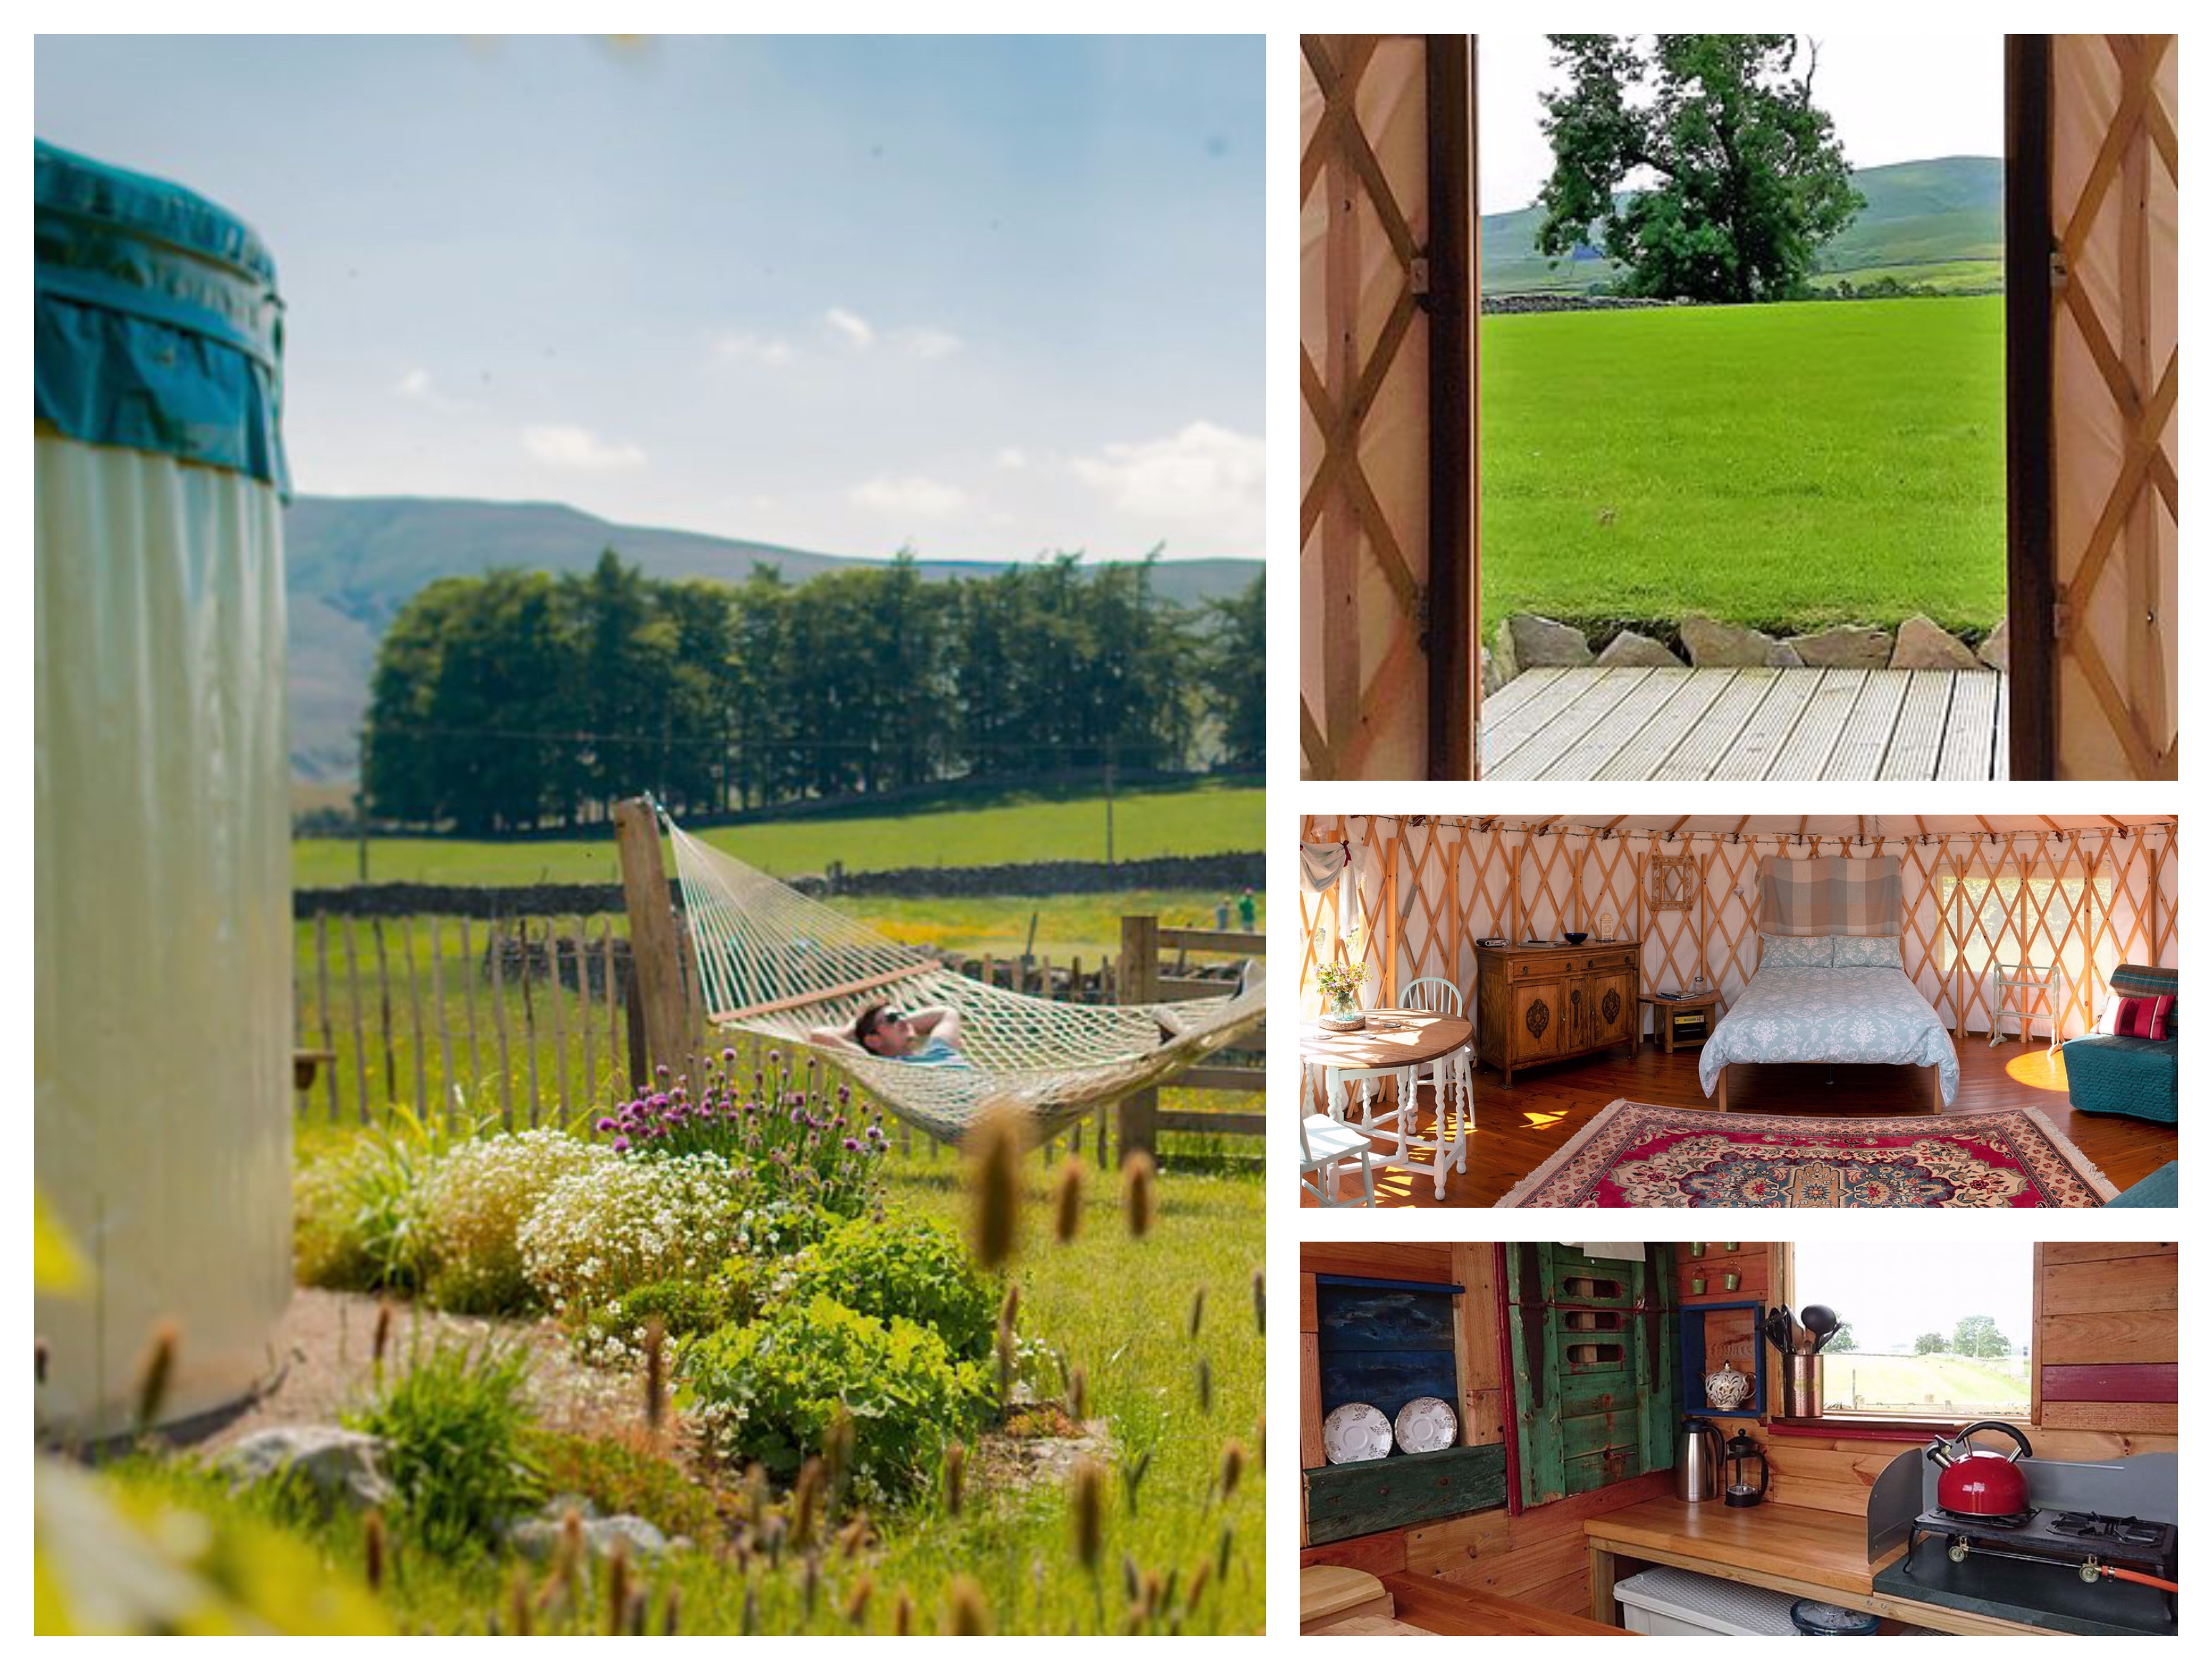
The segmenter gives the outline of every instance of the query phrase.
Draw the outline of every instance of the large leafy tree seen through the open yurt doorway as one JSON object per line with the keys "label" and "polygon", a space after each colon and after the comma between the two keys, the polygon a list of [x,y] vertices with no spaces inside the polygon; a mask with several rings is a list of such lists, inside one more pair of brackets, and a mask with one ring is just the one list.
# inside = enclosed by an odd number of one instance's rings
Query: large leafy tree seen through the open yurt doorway
{"label": "large leafy tree seen through the open yurt doorway", "polygon": [[1628,294],[1776,301],[1865,208],[1796,35],[1551,35],[1551,53],[1568,84],[1544,95],[1544,254],[1595,230]]}

